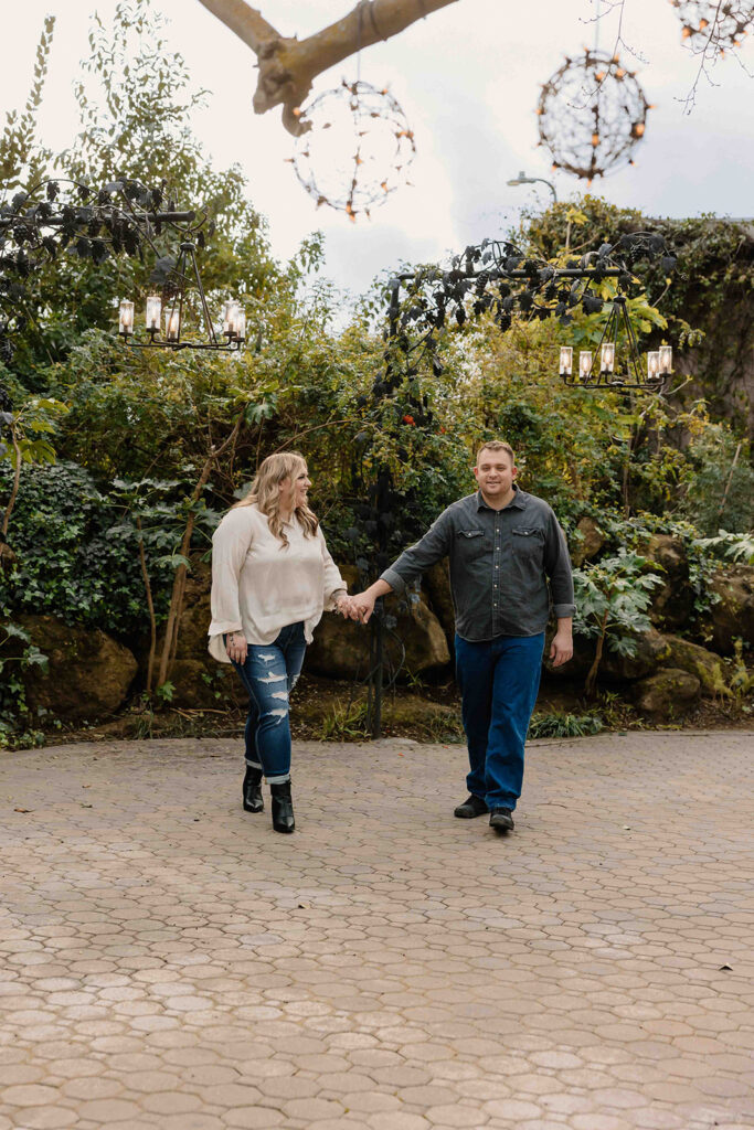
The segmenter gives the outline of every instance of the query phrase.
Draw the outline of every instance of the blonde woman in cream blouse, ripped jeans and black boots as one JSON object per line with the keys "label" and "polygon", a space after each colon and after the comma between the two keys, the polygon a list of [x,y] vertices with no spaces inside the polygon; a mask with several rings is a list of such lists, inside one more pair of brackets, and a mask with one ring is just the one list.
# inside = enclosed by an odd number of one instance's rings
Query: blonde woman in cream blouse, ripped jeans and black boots
{"label": "blonde woman in cream blouse, ripped jeans and black boots", "polygon": [[298,452],[269,455],[251,490],[213,537],[209,651],[231,662],[249,694],[243,807],[261,812],[262,774],[272,827],[293,832],[288,696],[324,609],[355,616],[306,496]]}

